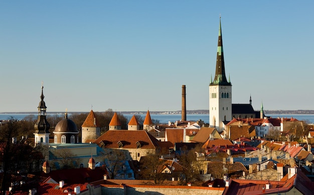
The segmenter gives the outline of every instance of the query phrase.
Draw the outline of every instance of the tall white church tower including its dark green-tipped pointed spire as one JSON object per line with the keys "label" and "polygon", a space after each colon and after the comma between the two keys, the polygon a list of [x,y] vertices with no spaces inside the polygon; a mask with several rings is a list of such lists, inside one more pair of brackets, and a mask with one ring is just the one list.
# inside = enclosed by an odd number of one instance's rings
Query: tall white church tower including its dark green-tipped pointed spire
{"label": "tall white church tower including its dark green-tipped pointed spire", "polygon": [[222,46],[221,19],[219,19],[218,49],[216,73],[209,84],[209,125],[219,132],[223,131],[223,122],[232,120],[232,85],[226,78],[224,51]]}

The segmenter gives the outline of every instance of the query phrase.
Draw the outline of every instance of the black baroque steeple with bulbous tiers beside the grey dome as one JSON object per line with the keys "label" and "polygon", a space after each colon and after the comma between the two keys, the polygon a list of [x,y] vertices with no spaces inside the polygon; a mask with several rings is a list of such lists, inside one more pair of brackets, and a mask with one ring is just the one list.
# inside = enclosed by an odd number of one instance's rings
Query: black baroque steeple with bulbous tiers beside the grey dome
{"label": "black baroque steeple with bulbous tiers beside the grey dome", "polygon": [[40,96],[41,101],[39,102],[38,108],[38,119],[34,125],[35,133],[46,134],[49,133],[50,124],[46,119],[46,103],[44,102],[44,86],[42,84],[42,94]]}

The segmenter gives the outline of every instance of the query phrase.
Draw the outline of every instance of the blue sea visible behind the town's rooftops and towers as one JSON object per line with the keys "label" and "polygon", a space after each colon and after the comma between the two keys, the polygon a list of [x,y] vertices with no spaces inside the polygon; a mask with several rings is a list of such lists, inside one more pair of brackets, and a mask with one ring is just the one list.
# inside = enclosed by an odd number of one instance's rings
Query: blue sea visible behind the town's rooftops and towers
{"label": "blue sea visible behind the town's rooftops and towers", "polygon": [[[34,114],[20,114],[20,113],[0,113],[0,120],[6,121],[13,117],[16,120],[23,120],[25,117],[29,115]],[[47,114],[55,116],[56,114]],[[63,116],[63,113],[57,114],[60,116]],[[126,118],[131,119],[133,114],[123,114]],[[140,114],[140,116],[145,119],[146,114]],[[308,124],[314,124],[314,115],[267,115],[267,117],[271,118],[295,118],[299,121],[305,121]],[[35,117],[37,117],[37,114],[35,114]],[[161,124],[168,124],[168,122],[176,122],[181,120],[181,114],[150,114],[150,117],[152,120],[158,120]],[[202,120],[205,123],[209,123],[209,115],[207,114],[187,114],[187,121],[198,121]]]}

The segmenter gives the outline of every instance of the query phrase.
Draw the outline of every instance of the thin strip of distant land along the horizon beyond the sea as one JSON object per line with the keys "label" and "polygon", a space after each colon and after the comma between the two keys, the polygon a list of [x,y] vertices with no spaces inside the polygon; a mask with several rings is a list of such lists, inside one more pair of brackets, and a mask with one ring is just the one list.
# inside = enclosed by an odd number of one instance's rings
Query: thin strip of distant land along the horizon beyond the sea
{"label": "thin strip of distant land along the horizon beyond the sea", "polygon": [[[106,111],[101,111],[106,112]],[[146,114],[147,111],[116,111],[120,114]],[[47,112],[47,114],[63,114],[63,112]],[[89,113],[88,112],[68,112],[69,114],[80,114],[80,113]],[[172,114],[181,114],[181,111],[149,111],[150,114],[161,114],[161,115],[172,115]],[[265,115],[314,115],[314,110],[264,110]],[[37,115],[38,112],[1,112],[0,114],[33,114]],[[187,114],[189,115],[208,115],[208,110],[188,110]]]}

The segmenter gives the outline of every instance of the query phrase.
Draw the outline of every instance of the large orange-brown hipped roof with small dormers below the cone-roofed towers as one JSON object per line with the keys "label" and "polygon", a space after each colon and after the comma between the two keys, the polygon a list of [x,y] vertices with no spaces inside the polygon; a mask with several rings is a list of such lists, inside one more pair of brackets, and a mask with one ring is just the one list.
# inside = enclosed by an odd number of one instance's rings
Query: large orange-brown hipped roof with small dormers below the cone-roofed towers
{"label": "large orange-brown hipped roof with small dormers below the cone-roofed towers", "polygon": [[160,141],[143,130],[110,130],[102,134],[93,143],[104,148],[119,148],[118,142],[122,142],[123,148],[137,148],[136,142],[141,143],[143,149],[156,149]]}

